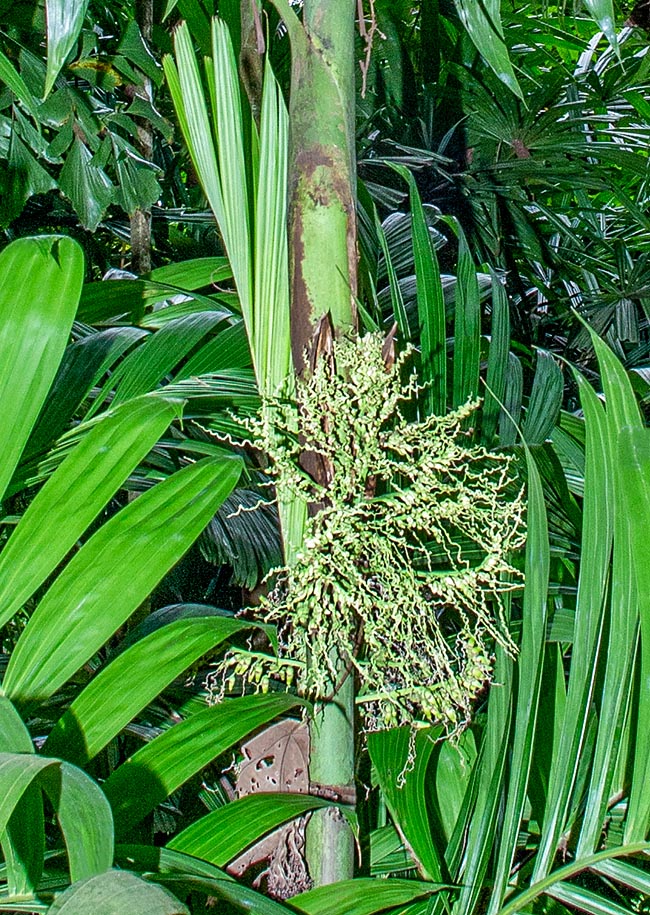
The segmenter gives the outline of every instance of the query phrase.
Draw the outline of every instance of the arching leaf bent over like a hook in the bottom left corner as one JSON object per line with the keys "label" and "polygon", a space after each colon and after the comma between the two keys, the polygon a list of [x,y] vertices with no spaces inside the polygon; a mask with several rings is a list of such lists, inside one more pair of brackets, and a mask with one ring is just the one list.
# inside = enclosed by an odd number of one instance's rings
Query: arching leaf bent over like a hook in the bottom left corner
{"label": "arching leaf bent over like a hook in the bottom left corner", "polygon": [[0,753],[0,836],[32,784],[43,789],[54,808],[71,879],[84,880],[110,867],[113,821],[108,802],[85,772],[58,759]]}

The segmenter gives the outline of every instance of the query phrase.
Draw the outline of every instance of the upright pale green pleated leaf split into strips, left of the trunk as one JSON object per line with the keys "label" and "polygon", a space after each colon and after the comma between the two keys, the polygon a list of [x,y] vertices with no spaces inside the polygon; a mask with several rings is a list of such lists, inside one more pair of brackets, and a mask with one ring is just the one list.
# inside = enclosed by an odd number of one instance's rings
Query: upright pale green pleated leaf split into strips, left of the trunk
{"label": "upright pale green pleated leaf split into strips, left of the trunk", "polygon": [[[242,104],[232,42],[222,20],[213,20],[211,37],[205,80],[185,23],[175,33],[176,59],[164,59],[165,74],[232,267],[260,393],[290,396],[288,114],[267,61],[258,133]],[[244,117],[250,125],[244,125]],[[279,493],[279,510],[288,556],[301,543],[305,507]]]}

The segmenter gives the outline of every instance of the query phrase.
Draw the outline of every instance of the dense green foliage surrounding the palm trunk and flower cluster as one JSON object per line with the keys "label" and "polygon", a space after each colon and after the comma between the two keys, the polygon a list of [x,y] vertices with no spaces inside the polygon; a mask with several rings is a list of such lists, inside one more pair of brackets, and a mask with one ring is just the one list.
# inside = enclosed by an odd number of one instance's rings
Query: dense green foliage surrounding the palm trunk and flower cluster
{"label": "dense green foliage surrounding the palm trunk and flower cluster", "polygon": [[[264,458],[230,442],[233,413],[254,414],[260,378],[288,366],[286,335],[268,348],[286,321],[269,303],[288,307],[287,39],[266,11],[278,83],[267,71],[257,133],[238,90],[239,3],[218,10],[233,57],[211,7],[156,7],[151,42],[132,12],[0,4],[0,908],[643,911],[642,11],[625,26],[607,3],[365,11],[360,313],[416,347],[422,415],[483,397],[472,441],[527,479],[526,585],[506,606],[518,653],[495,646],[470,727],[368,736],[367,796],[347,811],[359,876],[290,903],[226,867],[329,801],[232,799],[223,770],[300,702],[272,685],[210,704],[204,685],[226,645],[273,639],[234,615],[280,541]],[[180,18],[179,93],[161,56]],[[188,70],[213,41],[210,105],[231,87],[218,155]],[[152,206],[152,271],[99,281],[130,266],[129,217]]]}

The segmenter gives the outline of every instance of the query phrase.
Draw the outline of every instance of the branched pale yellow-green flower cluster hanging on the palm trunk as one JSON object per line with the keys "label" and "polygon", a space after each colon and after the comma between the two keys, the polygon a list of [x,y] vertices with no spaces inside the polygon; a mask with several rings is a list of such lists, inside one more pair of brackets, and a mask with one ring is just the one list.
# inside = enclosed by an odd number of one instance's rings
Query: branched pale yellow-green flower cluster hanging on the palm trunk
{"label": "branched pale yellow-green flower cluster hanging on the palm trunk", "polygon": [[[407,356],[387,370],[377,335],[341,340],[295,402],[248,425],[277,485],[322,507],[265,606],[278,656],[235,650],[223,670],[318,699],[343,662],[370,729],[435,722],[453,733],[490,678],[494,643],[514,651],[503,595],[520,586],[511,555],[524,503],[511,459],[463,432],[477,403],[405,417],[418,392],[415,375],[401,380]],[[301,470],[305,452],[322,461],[320,483]]]}

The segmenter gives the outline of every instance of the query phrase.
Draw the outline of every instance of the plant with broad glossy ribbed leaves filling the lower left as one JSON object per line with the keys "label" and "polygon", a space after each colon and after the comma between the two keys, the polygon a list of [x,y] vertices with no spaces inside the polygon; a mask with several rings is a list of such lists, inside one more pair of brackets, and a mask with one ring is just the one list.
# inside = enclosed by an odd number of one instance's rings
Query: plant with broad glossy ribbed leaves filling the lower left
{"label": "plant with broad glossy ribbed leaves filling the lower left", "polygon": [[[147,742],[126,760],[113,753],[103,768],[129,723],[245,625],[214,608],[171,608],[123,639],[127,621],[231,493],[242,463],[233,454],[190,461],[116,510],[111,500],[183,405],[178,397],[136,396],[86,425],[26,508],[22,493],[12,498],[66,352],[83,276],[81,249],[68,238],[20,239],[0,254],[0,627],[21,617],[1,658],[0,909],[119,913],[128,896],[142,915],[186,915],[173,893],[126,873],[148,868],[135,849],[128,862],[119,857],[116,835],[137,830],[221,752],[220,742],[227,749],[295,700],[269,697],[264,711],[244,699],[232,707],[237,723],[230,725],[227,704],[187,716],[179,730],[150,734],[162,742]],[[182,855],[175,860],[191,871]],[[216,868],[211,876],[213,892],[228,881]]]}

